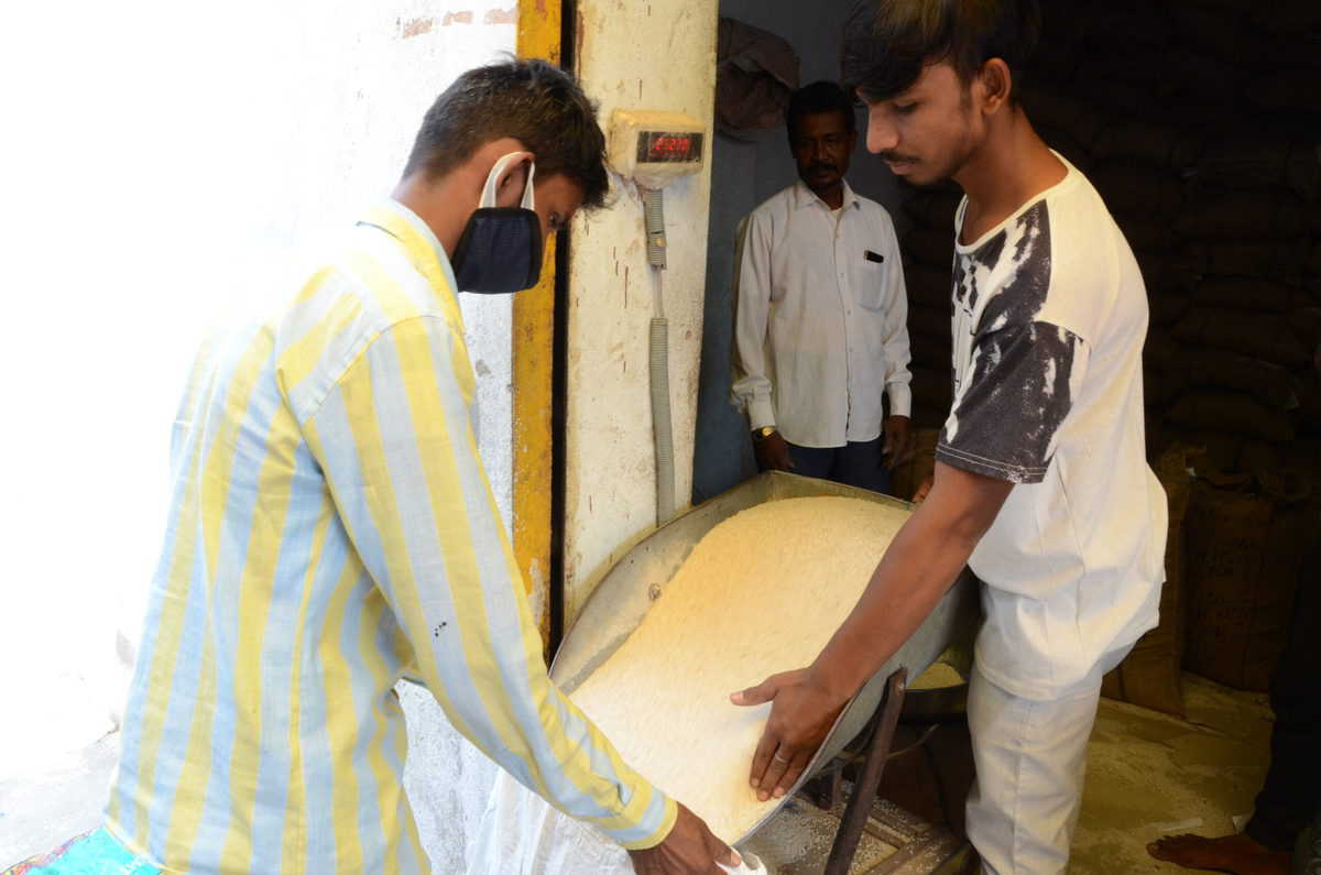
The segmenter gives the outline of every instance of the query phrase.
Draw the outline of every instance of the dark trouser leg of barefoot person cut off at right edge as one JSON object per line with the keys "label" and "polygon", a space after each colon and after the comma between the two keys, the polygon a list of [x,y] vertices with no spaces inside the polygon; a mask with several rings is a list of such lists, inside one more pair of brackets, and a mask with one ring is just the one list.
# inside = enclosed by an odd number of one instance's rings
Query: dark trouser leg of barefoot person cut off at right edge
{"label": "dark trouser leg of barefoot person cut off at right edge", "polygon": [[1271,677],[1271,768],[1244,831],[1287,851],[1321,812],[1321,542],[1299,575],[1293,625]]}

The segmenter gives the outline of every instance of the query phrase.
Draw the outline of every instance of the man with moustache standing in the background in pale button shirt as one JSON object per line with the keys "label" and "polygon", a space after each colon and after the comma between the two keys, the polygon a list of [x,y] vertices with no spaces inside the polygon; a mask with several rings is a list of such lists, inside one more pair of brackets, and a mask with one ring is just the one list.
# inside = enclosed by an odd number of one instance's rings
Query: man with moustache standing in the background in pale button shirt
{"label": "man with moustache standing in the background in pale button shirt", "polygon": [[785,124],[798,181],[744,225],[734,400],[748,411],[762,471],[885,492],[888,468],[910,445],[908,299],[894,223],[844,181],[857,132],[839,85],[795,91]]}

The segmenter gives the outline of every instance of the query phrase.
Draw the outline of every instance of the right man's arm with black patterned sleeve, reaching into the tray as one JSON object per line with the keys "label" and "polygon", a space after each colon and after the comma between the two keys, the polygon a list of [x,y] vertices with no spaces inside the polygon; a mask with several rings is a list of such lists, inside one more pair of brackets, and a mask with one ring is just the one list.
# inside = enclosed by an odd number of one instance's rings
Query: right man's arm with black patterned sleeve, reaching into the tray
{"label": "right man's arm with black patterned sleeve, reaching into the tray", "polygon": [[734,694],[774,702],[753,760],[758,796],[802,773],[844,703],[922,624],[1013,484],[1041,482],[1087,367],[1087,344],[1050,323],[983,316],[974,366],[935,449],[935,482],[894,537],[857,607],[810,669]]}

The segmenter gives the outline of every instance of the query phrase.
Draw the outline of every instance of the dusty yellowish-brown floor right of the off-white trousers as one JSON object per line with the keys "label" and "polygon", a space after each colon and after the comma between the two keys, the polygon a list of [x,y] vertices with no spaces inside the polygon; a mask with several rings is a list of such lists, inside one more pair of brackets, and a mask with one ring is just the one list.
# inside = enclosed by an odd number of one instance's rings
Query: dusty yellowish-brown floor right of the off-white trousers
{"label": "dusty yellowish-brown floor right of the off-white trousers", "polygon": [[1147,843],[1226,835],[1251,816],[1269,757],[1266,695],[1185,674],[1184,703],[1186,722],[1102,699],[1071,874],[1188,872],[1152,859]]}

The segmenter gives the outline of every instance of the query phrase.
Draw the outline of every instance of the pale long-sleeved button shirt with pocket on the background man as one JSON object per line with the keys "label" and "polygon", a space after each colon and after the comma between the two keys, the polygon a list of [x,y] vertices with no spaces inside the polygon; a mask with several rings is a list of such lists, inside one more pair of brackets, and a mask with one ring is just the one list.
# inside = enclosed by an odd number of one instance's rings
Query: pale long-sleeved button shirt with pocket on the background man
{"label": "pale long-sleeved button shirt with pocket on the background man", "polygon": [[909,415],[908,293],[884,206],[845,182],[836,219],[795,182],[748,217],[737,263],[733,395],[752,428],[843,447],[880,436],[882,393]]}

